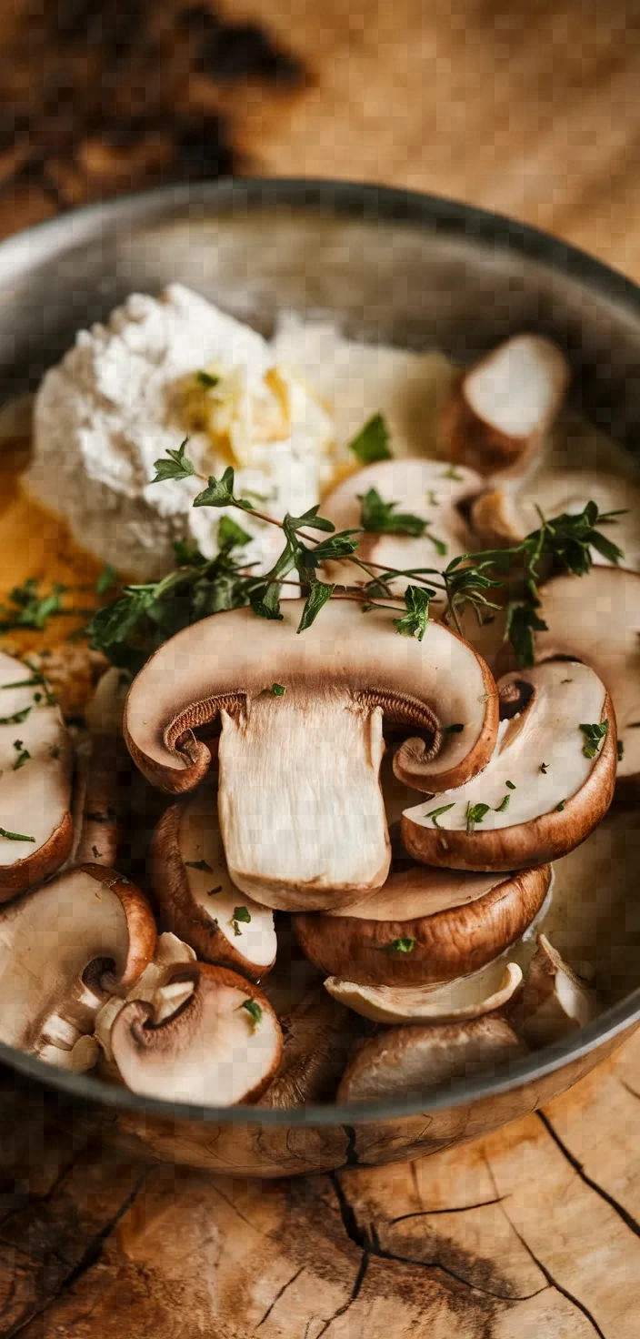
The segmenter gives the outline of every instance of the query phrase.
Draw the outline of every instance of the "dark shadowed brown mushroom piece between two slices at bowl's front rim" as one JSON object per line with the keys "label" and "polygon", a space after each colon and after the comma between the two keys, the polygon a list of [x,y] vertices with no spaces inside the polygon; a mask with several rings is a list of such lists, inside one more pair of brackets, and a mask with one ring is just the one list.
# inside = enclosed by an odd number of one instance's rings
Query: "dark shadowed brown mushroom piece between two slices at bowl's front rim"
{"label": "dark shadowed brown mushroom piece between two slices at bowl's front rim", "polygon": [[331,1101],[357,1035],[353,1016],[320,986],[280,1022],[284,1031],[280,1070],[258,1106]]}

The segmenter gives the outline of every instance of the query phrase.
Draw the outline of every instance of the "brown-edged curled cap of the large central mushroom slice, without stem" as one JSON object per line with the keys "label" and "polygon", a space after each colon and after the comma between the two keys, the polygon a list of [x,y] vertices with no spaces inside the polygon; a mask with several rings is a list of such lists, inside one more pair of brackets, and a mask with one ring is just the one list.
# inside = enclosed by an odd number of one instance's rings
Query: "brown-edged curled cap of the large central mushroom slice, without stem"
{"label": "brown-edged curled cap of the large central mushroom slice, without stem", "polygon": [[[303,601],[288,600],[283,620],[261,620],[250,609],[229,609],[191,624],[147,660],[129,691],[125,738],[147,781],[173,794],[193,787],[208,771],[210,754],[193,731],[221,711],[246,712],[273,682],[285,687],[280,707],[304,710],[316,696],[382,706],[391,720],[446,734],[435,758],[422,739],[408,739],[396,755],[407,785],[439,790],[481,770],[497,734],[494,682],[487,665],[461,637],[428,623],[424,637],[402,637],[394,615],[366,617],[333,600],[313,632],[297,635]],[[256,648],[260,653],[256,653]],[[412,746],[412,747],[408,747]],[[222,765],[222,763],[221,763]],[[285,766],[285,762],[283,762]]]}

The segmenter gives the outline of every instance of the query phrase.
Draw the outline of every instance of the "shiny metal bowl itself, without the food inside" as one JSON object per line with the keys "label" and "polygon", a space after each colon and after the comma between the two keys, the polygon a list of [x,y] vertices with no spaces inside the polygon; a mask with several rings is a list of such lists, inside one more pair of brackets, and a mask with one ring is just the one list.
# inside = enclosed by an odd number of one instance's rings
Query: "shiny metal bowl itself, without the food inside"
{"label": "shiny metal bowl itself, without the food inside", "polygon": [[[640,289],[495,214],[427,195],[312,181],[169,187],[91,206],[0,246],[0,400],[37,384],[75,332],[131,291],[191,285],[265,333],[278,311],[335,315],[366,340],[469,360],[513,331],[556,339],[577,407],[629,450],[640,423]],[[423,1099],[300,1110],[191,1107],[60,1073],[0,1046],[74,1118],[216,1172],[288,1176],[432,1153],[534,1110],[639,1023],[640,992],[584,1031]]]}

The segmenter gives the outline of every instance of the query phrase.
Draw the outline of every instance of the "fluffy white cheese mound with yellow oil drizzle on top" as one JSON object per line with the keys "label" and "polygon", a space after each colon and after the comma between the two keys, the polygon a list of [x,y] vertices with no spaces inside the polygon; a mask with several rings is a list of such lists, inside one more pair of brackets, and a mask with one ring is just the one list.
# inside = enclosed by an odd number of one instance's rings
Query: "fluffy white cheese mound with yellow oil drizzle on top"
{"label": "fluffy white cheese mound with yellow oil drizzle on top", "polygon": [[[217,552],[224,511],[191,506],[202,482],[151,483],[154,461],[187,435],[185,382],[212,367],[220,374],[210,415],[218,431],[190,434],[195,469],[220,477],[238,465],[237,495],[266,498],[262,506],[280,518],[307,510],[319,501],[331,419],[303,383],[278,370],[288,431],[273,439],[265,426],[261,439],[254,410],[273,399],[264,382],[274,367],[269,344],[179,284],[159,299],[134,293],[106,325],[80,331],[37,391],[29,491],[64,517],[79,544],[135,580],[163,576],[177,540],[195,541],[208,557]],[[228,439],[221,420],[233,424]],[[276,526],[248,513],[233,517],[254,536],[246,561],[270,565],[281,548]]]}

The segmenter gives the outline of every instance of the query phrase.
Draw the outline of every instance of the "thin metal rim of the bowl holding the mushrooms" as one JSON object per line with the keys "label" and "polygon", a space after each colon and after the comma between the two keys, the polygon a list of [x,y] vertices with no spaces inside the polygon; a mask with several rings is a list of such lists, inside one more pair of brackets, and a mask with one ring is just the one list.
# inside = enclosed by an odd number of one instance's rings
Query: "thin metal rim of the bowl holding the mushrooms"
{"label": "thin metal rim of the bowl holding the mushrooms", "polygon": [[[420,226],[449,236],[463,236],[471,242],[493,244],[497,250],[511,252],[534,260],[564,277],[578,281],[597,295],[615,300],[640,317],[640,287],[612,266],[586,252],[553,237],[529,224],[505,214],[446,197],[379,186],[367,182],[301,177],[236,177],[159,186],[153,190],[98,201],[68,213],[58,214],[16,233],[0,242],[0,301],[3,288],[20,272],[37,268],[47,257],[68,245],[130,229],[137,221],[169,218],[183,213],[185,220],[202,218],[237,209],[292,206],[311,213],[333,213]],[[9,292],[11,297],[11,292]],[[178,1122],[264,1126],[343,1126],[348,1133],[353,1122],[398,1121],[419,1117],[426,1110],[442,1111],[483,1098],[498,1097],[578,1062],[640,1022],[640,987],[617,1004],[600,1014],[585,1028],[570,1034],[542,1051],[533,1051],[497,1074],[477,1079],[458,1079],[447,1089],[426,1090],[411,1099],[308,1105],[305,1107],[256,1107],[246,1103],[232,1107],[198,1106],[161,1098],[143,1097],[126,1087],[104,1083],[90,1074],[59,1070],[25,1051],[0,1043],[0,1062],[48,1089],[70,1098],[126,1113],[171,1118]]]}

